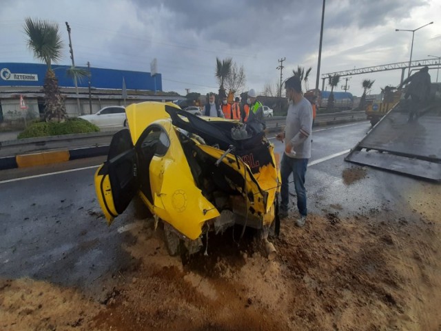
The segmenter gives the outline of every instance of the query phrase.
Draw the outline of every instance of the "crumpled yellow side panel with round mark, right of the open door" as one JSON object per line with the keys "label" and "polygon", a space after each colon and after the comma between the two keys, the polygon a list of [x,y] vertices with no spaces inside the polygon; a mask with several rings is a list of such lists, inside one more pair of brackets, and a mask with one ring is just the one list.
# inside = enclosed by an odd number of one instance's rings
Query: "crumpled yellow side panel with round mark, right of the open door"
{"label": "crumpled yellow side panel with round mark, right of the open door", "polygon": [[141,198],[153,214],[190,239],[218,210],[197,188],[170,120],[156,121],[136,142]]}

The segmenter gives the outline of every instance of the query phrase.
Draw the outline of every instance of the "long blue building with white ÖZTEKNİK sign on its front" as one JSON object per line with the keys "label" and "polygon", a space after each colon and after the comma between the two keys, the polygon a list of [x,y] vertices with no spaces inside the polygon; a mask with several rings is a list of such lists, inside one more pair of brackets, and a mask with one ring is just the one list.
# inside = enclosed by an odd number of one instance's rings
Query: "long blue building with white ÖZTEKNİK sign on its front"
{"label": "long blue building with white \u00d6ZTEKN\u0130K sign on its front", "polygon": [[[67,74],[69,68],[52,65],[69,117],[92,114],[105,106],[183,99],[176,93],[163,92],[161,74],[152,77],[150,72],[90,68],[89,89],[88,77],[77,81],[78,88],[74,87],[74,80]],[[0,122],[43,116],[46,71],[47,66],[40,63],[0,63]]]}

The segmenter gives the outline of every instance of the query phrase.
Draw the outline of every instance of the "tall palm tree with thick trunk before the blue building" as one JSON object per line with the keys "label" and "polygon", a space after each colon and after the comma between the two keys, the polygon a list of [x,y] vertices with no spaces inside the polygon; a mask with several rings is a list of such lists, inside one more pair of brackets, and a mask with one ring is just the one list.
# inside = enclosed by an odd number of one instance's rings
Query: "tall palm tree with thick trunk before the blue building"
{"label": "tall palm tree with thick trunk before the blue building", "polygon": [[57,62],[62,57],[63,41],[59,26],[57,23],[27,17],[24,30],[28,36],[28,48],[34,52],[36,59],[48,66],[43,85],[46,120],[63,121],[67,117],[64,98],[59,90],[58,79],[51,68],[52,62]]}

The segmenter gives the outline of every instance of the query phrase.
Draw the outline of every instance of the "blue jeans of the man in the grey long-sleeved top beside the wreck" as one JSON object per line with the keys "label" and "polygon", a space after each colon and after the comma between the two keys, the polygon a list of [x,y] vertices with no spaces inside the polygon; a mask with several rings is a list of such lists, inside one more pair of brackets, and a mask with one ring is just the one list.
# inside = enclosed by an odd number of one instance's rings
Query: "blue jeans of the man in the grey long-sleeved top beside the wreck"
{"label": "blue jeans of the man in the grey long-sleeved top beside the wreck", "polygon": [[305,174],[308,165],[308,159],[294,159],[287,157],[283,153],[282,162],[280,164],[280,177],[282,177],[282,186],[280,188],[280,209],[288,210],[289,203],[289,174],[293,174],[294,187],[297,195],[297,208],[300,215],[306,216],[308,213],[306,207],[306,189]]}

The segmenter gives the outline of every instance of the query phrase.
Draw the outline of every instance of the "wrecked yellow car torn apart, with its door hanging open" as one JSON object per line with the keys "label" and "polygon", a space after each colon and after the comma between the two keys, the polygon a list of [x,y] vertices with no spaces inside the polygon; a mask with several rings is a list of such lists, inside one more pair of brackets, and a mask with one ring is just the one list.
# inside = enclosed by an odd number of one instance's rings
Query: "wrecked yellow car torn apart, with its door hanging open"
{"label": "wrecked yellow car torn apart, with its door hanging open", "polygon": [[278,228],[280,177],[259,123],[197,117],[174,103],[137,103],[126,114],[130,130],[114,134],[94,179],[109,225],[139,194],[164,222],[170,254],[193,254],[204,234],[234,224],[265,240]]}

